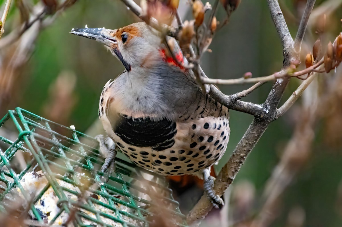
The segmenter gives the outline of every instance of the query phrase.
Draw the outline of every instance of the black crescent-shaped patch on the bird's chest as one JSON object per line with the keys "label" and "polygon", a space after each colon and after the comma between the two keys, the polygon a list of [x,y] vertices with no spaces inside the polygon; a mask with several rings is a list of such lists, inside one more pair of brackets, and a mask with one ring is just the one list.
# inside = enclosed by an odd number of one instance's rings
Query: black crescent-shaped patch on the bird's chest
{"label": "black crescent-shaped patch on the bird's chest", "polygon": [[176,123],[166,118],[155,121],[149,117],[131,118],[124,114],[119,114],[118,118],[113,126],[114,133],[127,144],[163,151],[175,142]]}

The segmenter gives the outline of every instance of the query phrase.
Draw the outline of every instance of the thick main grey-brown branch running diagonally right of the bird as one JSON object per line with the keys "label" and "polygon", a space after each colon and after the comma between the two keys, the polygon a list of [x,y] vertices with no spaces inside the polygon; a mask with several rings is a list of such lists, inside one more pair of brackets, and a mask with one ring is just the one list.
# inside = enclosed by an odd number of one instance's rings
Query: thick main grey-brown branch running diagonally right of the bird
{"label": "thick main grey-brown branch running diagonally right of the bird", "polygon": [[[293,52],[293,39],[285,23],[285,19],[282,16],[278,1],[267,0],[269,10],[274,22],[274,25],[278,31],[281,44],[284,48],[284,68],[287,68],[292,61]],[[259,118],[255,118],[252,124],[247,129],[246,133],[236,146],[232,156],[215,180],[215,193],[222,195],[224,191],[232,184],[236,174],[239,172],[241,166],[245,163],[248,154],[252,151],[255,144],[259,141],[260,137],[268,127],[269,123],[274,120],[276,114],[276,108],[279,101],[284,94],[286,85],[290,78],[284,77],[283,79],[277,79],[273,85],[271,92],[269,93],[266,102],[262,107],[266,110],[264,115]],[[189,212],[187,216],[187,222],[191,226],[198,226],[201,220],[212,209],[212,205],[207,196],[203,195],[195,207]]]}

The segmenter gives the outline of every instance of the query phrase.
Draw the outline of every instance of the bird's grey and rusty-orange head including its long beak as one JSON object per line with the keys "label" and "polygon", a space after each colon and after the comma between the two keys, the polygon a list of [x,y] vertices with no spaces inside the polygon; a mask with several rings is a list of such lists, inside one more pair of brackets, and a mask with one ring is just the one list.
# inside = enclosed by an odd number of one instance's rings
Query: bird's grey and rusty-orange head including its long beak
{"label": "bird's grey and rusty-orange head including its long beak", "polygon": [[122,62],[127,71],[136,67],[148,67],[160,57],[168,61],[165,49],[161,48],[160,36],[144,22],[115,30],[74,28],[70,33],[103,43]]}

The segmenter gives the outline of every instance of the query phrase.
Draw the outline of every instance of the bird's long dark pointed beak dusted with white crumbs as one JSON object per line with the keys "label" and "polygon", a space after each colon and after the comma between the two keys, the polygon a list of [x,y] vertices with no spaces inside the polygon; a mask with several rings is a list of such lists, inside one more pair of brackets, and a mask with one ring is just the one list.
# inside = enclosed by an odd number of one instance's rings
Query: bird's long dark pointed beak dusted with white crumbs
{"label": "bird's long dark pointed beak dusted with white crumbs", "polygon": [[115,30],[105,28],[73,28],[70,33],[93,39],[106,46],[110,46],[117,43],[114,37],[110,35],[113,32],[115,32]]}

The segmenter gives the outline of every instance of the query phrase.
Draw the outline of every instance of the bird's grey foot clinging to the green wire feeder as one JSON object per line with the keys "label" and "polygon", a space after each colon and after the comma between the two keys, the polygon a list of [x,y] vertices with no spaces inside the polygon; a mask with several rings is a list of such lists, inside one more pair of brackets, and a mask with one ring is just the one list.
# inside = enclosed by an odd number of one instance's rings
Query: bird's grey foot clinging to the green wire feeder
{"label": "bird's grey foot clinging to the green wire feeder", "polygon": [[115,170],[115,157],[117,154],[117,151],[115,150],[115,143],[108,148],[103,135],[97,135],[95,139],[100,144],[101,153],[106,157],[105,163],[102,165],[100,171],[104,173],[108,169],[107,174],[110,176]]}

